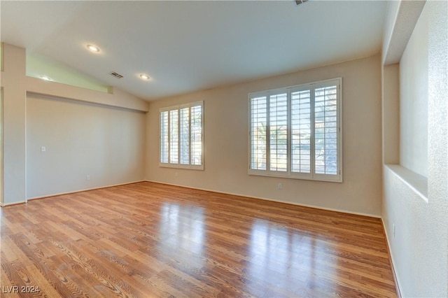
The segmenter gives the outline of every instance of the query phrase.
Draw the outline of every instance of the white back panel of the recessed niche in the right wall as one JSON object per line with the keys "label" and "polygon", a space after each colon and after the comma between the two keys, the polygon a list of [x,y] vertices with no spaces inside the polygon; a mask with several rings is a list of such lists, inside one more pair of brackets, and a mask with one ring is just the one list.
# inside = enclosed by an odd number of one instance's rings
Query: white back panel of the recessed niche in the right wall
{"label": "white back panel of the recessed niche in the right wall", "polygon": [[428,176],[428,13],[400,60],[400,164]]}

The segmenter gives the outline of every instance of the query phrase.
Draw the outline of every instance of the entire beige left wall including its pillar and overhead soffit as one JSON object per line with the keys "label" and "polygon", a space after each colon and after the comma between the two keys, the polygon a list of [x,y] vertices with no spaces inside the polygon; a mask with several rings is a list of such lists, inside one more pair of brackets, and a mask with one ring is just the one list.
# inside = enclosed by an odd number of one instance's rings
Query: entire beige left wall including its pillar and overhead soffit
{"label": "entire beige left wall including its pillar and overhead soffit", "polygon": [[[2,206],[48,194],[144,179],[146,101],[120,90],[109,94],[29,78],[25,76],[25,63],[25,49],[4,44]],[[30,92],[58,99],[27,98]],[[92,120],[93,113],[96,120]],[[117,146],[116,139],[123,140],[123,136],[132,142],[127,144],[129,147]],[[85,143],[73,146],[74,139]],[[38,150],[48,146],[49,150],[39,155],[35,146]],[[111,157],[108,162],[104,162],[106,155]],[[91,180],[85,181],[89,171]]]}

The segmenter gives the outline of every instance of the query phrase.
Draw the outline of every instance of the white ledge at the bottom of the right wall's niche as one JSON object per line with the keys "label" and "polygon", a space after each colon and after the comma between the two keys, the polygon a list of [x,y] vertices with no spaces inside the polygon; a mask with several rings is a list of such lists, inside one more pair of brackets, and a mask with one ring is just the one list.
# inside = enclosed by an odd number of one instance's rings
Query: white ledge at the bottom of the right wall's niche
{"label": "white ledge at the bottom of the right wall's niche", "polygon": [[400,166],[400,164],[385,164],[384,166],[428,203],[428,178]]}

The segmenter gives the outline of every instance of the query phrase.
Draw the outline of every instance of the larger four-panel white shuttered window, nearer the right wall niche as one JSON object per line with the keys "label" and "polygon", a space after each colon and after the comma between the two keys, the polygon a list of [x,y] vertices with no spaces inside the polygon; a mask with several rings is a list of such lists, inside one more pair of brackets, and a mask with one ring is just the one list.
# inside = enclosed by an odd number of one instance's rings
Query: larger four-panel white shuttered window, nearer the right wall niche
{"label": "larger four-panel white shuttered window, nearer the right wall niche", "polygon": [[342,182],[342,78],[249,94],[249,174]]}

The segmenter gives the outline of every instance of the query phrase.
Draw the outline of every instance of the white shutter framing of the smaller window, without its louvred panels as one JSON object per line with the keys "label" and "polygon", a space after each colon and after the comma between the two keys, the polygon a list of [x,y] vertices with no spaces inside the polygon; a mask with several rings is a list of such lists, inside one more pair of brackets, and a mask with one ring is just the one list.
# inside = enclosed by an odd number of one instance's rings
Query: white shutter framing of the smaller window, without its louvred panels
{"label": "white shutter framing of the smaller window, without its louvred panels", "polygon": [[[191,158],[192,158],[192,120],[191,120],[191,108],[195,106],[201,107],[201,164],[191,164]],[[189,144],[189,152],[188,157],[190,159],[189,164],[182,164],[181,163],[181,110],[183,108],[189,108],[189,115],[188,115],[188,123],[189,123],[189,136],[188,136],[188,144]],[[178,145],[178,152],[177,152],[177,163],[172,163],[170,161],[170,146],[171,146],[171,138],[169,134],[169,125],[170,123],[170,113],[171,111],[177,111],[177,145]],[[167,145],[167,161],[168,162],[162,162],[162,113],[167,112],[167,122],[168,122],[168,132],[167,132],[167,139],[168,139],[168,145]],[[195,170],[204,170],[204,101],[195,101],[188,104],[180,104],[177,106],[167,106],[163,108],[159,108],[159,166],[164,168],[176,168],[176,169],[195,169]]]}

